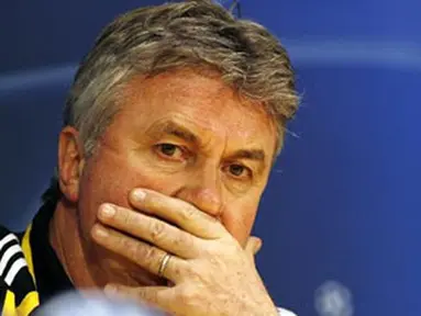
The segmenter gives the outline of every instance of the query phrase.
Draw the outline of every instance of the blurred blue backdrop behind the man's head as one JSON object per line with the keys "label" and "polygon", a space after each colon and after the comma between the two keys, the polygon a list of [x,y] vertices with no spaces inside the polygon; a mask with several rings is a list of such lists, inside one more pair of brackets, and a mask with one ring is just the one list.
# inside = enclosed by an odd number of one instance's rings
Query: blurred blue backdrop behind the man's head
{"label": "blurred blue backdrop behind the man's head", "polygon": [[[98,32],[162,2],[0,3],[1,223],[21,229],[36,212]],[[301,316],[421,315],[421,2],[241,5],[285,44],[303,97],[255,227],[274,300]]]}

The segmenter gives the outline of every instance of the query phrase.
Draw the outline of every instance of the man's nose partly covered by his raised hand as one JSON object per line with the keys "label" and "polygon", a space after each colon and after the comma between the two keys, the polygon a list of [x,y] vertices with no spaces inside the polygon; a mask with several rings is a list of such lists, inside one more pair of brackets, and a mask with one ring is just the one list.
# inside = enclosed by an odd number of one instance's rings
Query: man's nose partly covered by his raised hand
{"label": "man's nose partly covered by his raised hand", "polygon": [[193,174],[188,183],[175,194],[176,198],[181,199],[200,211],[213,216],[221,217],[222,213],[222,196],[221,196],[221,181],[219,181],[218,170],[208,168]]}

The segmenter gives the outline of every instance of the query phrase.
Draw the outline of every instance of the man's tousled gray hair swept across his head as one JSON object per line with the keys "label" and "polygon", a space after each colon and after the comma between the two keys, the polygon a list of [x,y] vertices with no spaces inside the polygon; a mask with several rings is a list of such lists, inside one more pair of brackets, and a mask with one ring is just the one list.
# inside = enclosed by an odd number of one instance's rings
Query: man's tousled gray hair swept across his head
{"label": "man's tousled gray hair swept across his head", "polygon": [[89,157],[133,76],[195,67],[219,71],[241,95],[264,104],[277,123],[279,153],[299,103],[287,52],[264,26],[206,0],[141,8],[106,26],[75,76],[64,124],[79,131]]}

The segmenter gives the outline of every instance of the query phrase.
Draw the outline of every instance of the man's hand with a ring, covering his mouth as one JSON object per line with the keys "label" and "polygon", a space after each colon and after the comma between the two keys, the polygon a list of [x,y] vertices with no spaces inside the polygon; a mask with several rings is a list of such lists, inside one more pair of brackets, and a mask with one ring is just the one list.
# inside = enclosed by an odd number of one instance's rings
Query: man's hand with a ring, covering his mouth
{"label": "man's hand with a ring, covering his mouth", "polygon": [[243,249],[219,221],[193,205],[151,190],[135,192],[141,194],[131,194],[131,203],[143,213],[104,204],[99,219],[107,226],[96,224],[92,236],[153,273],[170,253],[163,276],[174,286],[112,284],[106,292],[146,301],[174,315],[277,315],[254,264],[258,238],[251,237]]}

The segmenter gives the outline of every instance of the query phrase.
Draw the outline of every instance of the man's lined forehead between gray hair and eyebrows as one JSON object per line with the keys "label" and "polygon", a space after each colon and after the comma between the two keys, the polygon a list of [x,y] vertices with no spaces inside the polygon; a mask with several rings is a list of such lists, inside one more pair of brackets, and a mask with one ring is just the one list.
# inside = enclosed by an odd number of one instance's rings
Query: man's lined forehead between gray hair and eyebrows
{"label": "man's lined forehead between gray hair and eyebrows", "polygon": [[276,143],[275,124],[262,104],[236,93],[215,72],[189,69],[134,77],[124,89],[122,111],[142,127],[175,119],[203,138],[258,144],[266,151]]}

